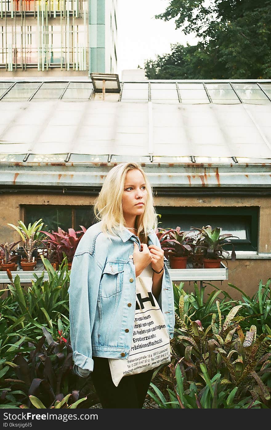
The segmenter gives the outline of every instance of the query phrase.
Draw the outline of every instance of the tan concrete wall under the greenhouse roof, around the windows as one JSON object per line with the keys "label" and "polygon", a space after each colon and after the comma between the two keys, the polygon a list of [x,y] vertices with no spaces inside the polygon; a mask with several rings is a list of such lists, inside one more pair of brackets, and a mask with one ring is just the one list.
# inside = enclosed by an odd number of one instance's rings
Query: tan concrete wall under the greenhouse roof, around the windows
{"label": "tan concrete wall under the greenhouse roof, around the windows", "polygon": [[[50,194],[2,194],[0,195],[0,241],[12,242],[18,240],[18,234],[7,223],[17,225],[18,220],[24,219],[22,205],[93,205],[95,197],[91,196],[66,196]],[[259,206],[259,253],[271,253],[271,197],[156,197],[157,206]],[[227,281],[213,282],[218,288],[225,289],[233,298],[240,298],[240,294],[227,286],[233,283],[246,294],[252,295],[257,291],[259,280],[266,282],[271,276],[271,259],[241,259],[228,261]],[[177,283],[177,282],[176,282]],[[187,291],[193,290],[193,283],[185,283]],[[212,287],[206,288],[206,293],[212,291]]]}

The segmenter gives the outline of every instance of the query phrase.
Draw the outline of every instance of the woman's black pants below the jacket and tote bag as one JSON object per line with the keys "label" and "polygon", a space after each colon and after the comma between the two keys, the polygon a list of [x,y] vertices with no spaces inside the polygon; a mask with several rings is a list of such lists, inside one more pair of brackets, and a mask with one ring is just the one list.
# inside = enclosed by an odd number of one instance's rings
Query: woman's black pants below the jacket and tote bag
{"label": "woman's black pants below the jacket and tote bag", "polygon": [[142,408],[153,370],[124,376],[116,387],[107,358],[93,357],[92,381],[103,408]]}

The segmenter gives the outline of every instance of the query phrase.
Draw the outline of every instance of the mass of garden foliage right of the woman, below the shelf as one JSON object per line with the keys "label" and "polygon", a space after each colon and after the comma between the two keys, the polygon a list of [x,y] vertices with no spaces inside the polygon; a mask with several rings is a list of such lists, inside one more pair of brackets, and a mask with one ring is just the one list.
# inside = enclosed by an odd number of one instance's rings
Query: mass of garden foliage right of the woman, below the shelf
{"label": "mass of garden foliage right of the woman, below the shelf", "polygon": [[270,408],[271,333],[257,313],[268,317],[269,284],[244,302],[218,289],[205,302],[196,283],[190,294],[174,286],[172,359],[159,369],[164,389],[148,392],[160,408]]}

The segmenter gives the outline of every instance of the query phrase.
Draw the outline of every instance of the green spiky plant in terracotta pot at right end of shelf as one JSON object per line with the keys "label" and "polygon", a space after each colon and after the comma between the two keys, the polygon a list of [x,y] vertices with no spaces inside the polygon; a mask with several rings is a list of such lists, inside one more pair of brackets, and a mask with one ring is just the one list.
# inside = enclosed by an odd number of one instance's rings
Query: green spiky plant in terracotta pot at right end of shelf
{"label": "green spiky plant in terracotta pot at right end of shelf", "polygon": [[194,241],[193,252],[195,253],[197,249],[203,250],[203,267],[205,269],[220,267],[221,260],[224,258],[223,253],[229,255],[229,252],[223,249],[229,243],[232,246],[231,260],[236,259],[234,245],[229,238],[237,236],[233,236],[231,233],[221,234],[221,227],[215,227],[212,230],[210,225],[202,228],[191,227],[191,229],[199,231],[196,235],[196,243]]}

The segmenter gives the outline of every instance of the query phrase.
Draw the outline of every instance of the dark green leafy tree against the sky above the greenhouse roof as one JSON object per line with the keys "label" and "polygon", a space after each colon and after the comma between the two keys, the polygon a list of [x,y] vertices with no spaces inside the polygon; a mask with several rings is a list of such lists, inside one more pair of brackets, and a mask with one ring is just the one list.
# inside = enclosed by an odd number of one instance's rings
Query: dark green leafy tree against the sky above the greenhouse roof
{"label": "dark green leafy tree against the sky above the greenhouse roof", "polygon": [[150,79],[271,78],[271,0],[171,0],[156,18],[199,42],[147,60]]}

